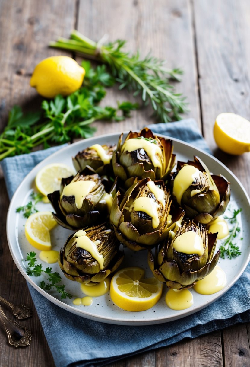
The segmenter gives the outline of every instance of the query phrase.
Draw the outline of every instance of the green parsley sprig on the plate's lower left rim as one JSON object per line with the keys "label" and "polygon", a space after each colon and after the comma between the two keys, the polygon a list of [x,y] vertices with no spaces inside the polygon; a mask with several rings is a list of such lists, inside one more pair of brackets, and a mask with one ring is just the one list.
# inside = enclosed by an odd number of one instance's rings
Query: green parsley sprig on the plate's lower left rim
{"label": "green parsley sprig on the plate's lower left rim", "polygon": [[42,268],[41,264],[37,264],[36,252],[31,251],[27,254],[27,261],[29,268],[27,268],[27,275],[40,276],[42,273],[47,274],[49,283],[45,283],[44,280],[40,282],[40,288],[45,290],[51,290],[54,288],[57,292],[60,293],[61,299],[72,298],[73,296],[70,293],[65,292],[64,284],[56,284],[59,283],[62,278],[58,272],[52,273],[52,268],[46,268],[45,270]]}

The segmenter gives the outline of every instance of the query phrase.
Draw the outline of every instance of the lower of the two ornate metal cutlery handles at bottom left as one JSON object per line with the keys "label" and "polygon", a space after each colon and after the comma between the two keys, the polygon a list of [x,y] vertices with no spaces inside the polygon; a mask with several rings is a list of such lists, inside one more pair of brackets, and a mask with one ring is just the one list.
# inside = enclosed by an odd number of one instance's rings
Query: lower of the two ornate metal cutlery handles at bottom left
{"label": "lower of the two ornate metal cutlery handles at bottom left", "polygon": [[14,345],[16,348],[30,345],[32,338],[31,331],[25,326],[19,325],[16,321],[8,319],[1,306],[0,321],[4,325],[10,345]]}

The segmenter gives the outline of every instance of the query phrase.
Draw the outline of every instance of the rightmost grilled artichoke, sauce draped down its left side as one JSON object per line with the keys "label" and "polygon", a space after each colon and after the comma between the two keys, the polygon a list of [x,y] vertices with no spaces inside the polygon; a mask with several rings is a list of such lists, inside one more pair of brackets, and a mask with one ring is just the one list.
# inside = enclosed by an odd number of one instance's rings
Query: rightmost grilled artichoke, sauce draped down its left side
{"label": "rightmost grilled artichoke, sauce draped down its left side", "polygon": [[221,175],[211,175],[206,165],[194,161],[177,162],[172,175],[173,196],[188,218],[202,224],[223,214],[230,200],[230,185]]}

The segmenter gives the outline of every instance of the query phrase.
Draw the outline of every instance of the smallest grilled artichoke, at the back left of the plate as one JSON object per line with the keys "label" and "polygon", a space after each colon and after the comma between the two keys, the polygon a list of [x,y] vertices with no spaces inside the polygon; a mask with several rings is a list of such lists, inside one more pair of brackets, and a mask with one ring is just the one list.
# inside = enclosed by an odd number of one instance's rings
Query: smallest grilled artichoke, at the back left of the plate
{"label": "smallest grilled artichoke, at the back left of the plate", "polygon": [[115,145],[94,144],[78,152],[75,157],[72,157],[73,165],[76,171],[84,170],[85,167],[91,167],[100,176],[110,173],[112,171],[110,161],[115,148]]}

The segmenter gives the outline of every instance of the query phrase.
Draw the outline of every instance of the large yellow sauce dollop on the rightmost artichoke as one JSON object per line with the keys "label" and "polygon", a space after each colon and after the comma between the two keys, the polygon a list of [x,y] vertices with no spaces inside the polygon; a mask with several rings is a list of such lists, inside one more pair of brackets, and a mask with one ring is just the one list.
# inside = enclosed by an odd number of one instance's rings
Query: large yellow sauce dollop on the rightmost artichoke
{"label": "large yellow sauce dollop on the rightmost artichoke", "polygon": [[181,199],[184,192],[196,182],[199,178],[200,171],[191,165],[184,165],[177,173],[173,184],[173,195],[176,197],[177,203],[181,205]]}

